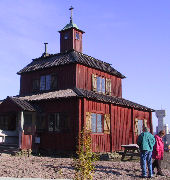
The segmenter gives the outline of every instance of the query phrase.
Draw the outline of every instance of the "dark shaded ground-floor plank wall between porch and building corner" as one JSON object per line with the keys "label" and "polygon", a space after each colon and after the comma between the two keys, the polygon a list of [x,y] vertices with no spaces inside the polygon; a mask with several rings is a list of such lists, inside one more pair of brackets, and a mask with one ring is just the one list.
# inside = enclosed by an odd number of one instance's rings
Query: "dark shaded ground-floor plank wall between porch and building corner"
{"label": "dark shaded ground-floor plank wall between porch and building corner", "polygon": [[48,127],[48,114],[66,112],[70,117],[70,131],[66,133],[48,132],[40,133],[39,147],[46,150],[72,151],[76,148],[78,135],[78,100],[63,99],[59,101],[46,101],[39,106],[46,112],[46,127]]}

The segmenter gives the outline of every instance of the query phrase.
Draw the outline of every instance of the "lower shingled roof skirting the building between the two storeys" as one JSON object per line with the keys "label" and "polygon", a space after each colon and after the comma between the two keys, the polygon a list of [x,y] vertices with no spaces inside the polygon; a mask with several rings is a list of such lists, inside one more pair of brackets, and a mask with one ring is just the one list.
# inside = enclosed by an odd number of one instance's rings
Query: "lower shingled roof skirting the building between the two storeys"
{"label": "lower shingled roof skirting the building between the two storeys", "polygon": [[27,106],[25,102],[31,105],[32,102],[37,102],[37,101],[42,101],[42,100],[60,99],[60,98],[71,98],[71,97],[85,97],[92,100],[112,103],[112,104],[116,104],[120,106],[132,107],[139,110],[155,111],[151,108],[148,108],[146,106],[137,104],[135,102],[132,102],[123,98],[99,94],[93,91],[87,91],[87,90],[83,90],[79,88],[59,90],[59,91],[53,91],[53,92],[30,95],[30,96],[17,96],[17,97],[13,97],[13,99],[17,103],[21,103],[21,106],[23,106],[23,104],[24,106]]}

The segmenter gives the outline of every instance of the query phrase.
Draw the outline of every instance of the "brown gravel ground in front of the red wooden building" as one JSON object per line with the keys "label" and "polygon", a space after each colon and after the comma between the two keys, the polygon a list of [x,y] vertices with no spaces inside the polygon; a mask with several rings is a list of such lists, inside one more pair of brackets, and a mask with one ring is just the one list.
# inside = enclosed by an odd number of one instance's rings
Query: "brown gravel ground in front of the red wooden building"
{"label": "brown gravel ground in front of the red wooden building", "polygon": [[[170,153],[166,154],[163,163],[165,177],[155,176],[152,179],[170,180]],[[0,177],[43,178],[43,179],[74,179],[71,158],[51,158],[37,156],[0,156]],[[94,180],[141,179],[139,162],[98,161]]]}

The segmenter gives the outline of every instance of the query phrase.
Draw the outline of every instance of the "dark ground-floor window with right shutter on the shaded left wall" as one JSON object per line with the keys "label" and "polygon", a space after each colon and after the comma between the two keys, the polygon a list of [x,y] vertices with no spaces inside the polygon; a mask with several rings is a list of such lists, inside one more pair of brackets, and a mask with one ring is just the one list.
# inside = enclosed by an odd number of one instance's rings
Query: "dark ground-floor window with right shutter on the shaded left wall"
{"label": "dark ground-floor window with right shutter on the shaded left wall", "polygon": [[66,113],[51,113],[49,115],[48,131],[65,132],[69,130],[69,117]]}

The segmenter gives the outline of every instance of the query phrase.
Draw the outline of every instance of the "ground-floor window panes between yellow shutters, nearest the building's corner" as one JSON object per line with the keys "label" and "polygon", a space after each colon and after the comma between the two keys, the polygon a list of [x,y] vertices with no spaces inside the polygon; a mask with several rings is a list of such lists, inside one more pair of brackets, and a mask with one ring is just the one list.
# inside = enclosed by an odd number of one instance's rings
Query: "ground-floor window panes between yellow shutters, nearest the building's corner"
{"label": "ground-floor window panes between yellow shutters, nearest the building's corner", "polygon": [[92,133],[102,133],[103,132],[103,123],[101,114],[91,114],[91,130]]}

